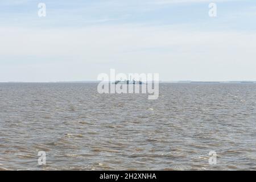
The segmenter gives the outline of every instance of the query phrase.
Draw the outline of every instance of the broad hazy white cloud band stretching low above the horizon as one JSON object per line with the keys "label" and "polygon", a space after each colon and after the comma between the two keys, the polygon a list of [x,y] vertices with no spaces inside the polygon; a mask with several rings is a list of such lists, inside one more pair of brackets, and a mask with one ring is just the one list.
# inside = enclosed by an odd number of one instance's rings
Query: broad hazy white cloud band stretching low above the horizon
{"label": "broad hazy white cloud band stretching low above the horizon", "polygon": [[[0,34],[0,55],[23,57],[19,64],[0,61],[1,79],[86,80],[116,68],[125,73],[158,72],[162,80],[256,80],[255,33],[119,25],[1,28]],[[26,63],[28,55],[46,60]]]}

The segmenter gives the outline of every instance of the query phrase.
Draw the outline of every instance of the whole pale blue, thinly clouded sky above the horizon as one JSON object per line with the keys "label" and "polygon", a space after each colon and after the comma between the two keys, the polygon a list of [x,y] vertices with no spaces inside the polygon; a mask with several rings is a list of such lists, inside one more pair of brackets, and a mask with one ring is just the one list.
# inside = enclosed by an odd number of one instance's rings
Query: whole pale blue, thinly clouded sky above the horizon
{"label": "whole pale blue, thinly clouded sky above the horizon", "polygon": [[0,0],[0,82],[255,81],[255,50],[255,0]]}

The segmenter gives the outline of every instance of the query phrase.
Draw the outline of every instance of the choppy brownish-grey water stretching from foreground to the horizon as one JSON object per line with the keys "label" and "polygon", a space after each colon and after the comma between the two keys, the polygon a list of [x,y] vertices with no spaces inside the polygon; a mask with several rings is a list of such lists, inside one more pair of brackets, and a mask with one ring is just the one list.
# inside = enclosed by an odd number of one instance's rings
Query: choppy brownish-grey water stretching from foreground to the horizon
{"label": "choppy brownish-grey water stretching from foreground to the horizon", "polygon": [[93,83],[0,84],[0,169],[256,169],[256,84],[159,89],[147,100]]}

